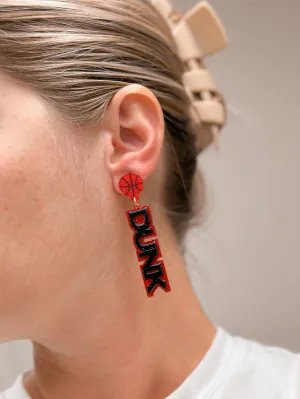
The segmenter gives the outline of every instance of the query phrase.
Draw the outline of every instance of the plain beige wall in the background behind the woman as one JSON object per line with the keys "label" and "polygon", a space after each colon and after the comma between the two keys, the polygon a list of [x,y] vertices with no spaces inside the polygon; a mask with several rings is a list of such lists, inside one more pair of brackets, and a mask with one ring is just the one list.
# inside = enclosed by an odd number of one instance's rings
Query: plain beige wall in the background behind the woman
{"label": "plain beige wall in the background behind the woman", "polygon": [[[207,63],[230,120],[221,154],[199,160],[210,217],[188,237],[188,270],[216,323],[300,351],[300,2],[211,4],[230,47]],[[0,390],[31,367],[30,350],[0,345]]]}

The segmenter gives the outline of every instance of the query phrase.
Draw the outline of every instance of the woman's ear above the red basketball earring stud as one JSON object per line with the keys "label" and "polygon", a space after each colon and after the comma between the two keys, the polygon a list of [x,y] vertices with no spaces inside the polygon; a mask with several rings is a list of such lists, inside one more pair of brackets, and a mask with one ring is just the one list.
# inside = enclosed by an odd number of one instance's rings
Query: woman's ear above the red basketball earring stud
{"label": "woman's ear above the red basketball earring stud", "polygon": [[128,85],[111,100],[104,119],[111,135],[107,166],[115,190],[129,172],[144,180],[157,166],[164,142],[164,117],[155,95],[146,87]]}

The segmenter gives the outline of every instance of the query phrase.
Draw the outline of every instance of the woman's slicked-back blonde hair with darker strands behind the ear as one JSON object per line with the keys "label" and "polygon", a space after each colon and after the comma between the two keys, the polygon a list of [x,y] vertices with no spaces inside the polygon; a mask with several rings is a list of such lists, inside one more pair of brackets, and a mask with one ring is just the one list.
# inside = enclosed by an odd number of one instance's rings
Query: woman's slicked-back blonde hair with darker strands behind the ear
{"label": "woman's slicked-back blonde hair with darker strands behind the ear", "polygon": [[0,0],[0,69],[80,126],[99,123],[120,88],[152,90],[170,148],[165,207],[182,236],[193,214],[195,133],[184,65],[148,0]]}

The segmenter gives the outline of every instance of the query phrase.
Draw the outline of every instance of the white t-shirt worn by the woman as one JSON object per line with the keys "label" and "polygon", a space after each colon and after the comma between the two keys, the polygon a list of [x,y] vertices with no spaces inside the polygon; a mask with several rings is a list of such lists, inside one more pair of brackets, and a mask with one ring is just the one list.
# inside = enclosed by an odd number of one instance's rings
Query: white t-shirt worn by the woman
{"label": "white t-shirt worn by the woman", "polygon": [[[0,399],[30,399],[22,381],[21,374]],[[205,357],[165,399],[300,399],[300,354],[218,327]]]}

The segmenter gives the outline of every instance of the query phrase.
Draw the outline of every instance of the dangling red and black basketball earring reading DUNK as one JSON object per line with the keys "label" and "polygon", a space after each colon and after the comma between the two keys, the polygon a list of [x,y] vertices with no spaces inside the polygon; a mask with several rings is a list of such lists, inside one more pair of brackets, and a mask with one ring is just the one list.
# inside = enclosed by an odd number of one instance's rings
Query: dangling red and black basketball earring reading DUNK
{"label": "dangling red and black basketball earring reading DUNK", "polygon": [[[126,212],[129,227],[133,230],[133,242],[144,279],[146,292],[152,297],[158,287],[170,292],[169,279],[158,243],[149,205],[138,204],[144,188],[143,179],[135,173],[124,175],[119,182],[121,192],[134,201],[135,209]],[[142,263],[143,262],[143,263]]]}

